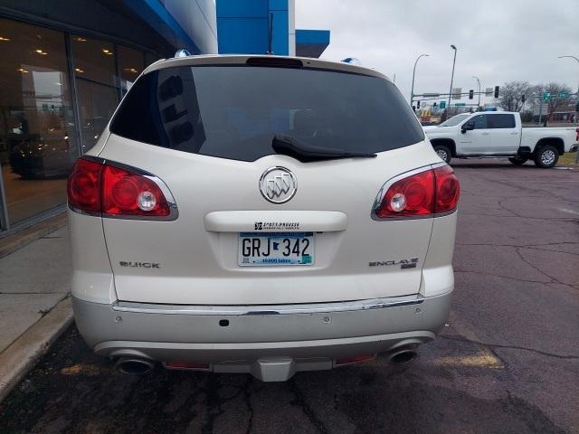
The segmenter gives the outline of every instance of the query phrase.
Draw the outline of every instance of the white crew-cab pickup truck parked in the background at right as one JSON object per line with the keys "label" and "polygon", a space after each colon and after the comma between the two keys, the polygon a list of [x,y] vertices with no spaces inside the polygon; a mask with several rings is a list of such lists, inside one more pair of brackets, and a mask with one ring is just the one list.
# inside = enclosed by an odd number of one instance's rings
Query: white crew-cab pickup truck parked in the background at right
{"label": "white crew-cab pickup truck parked in the background at right", "polygon": [[577,150],[577,127],[522,127],[518,113],[462,113],[435,127],[424,127],[436,153],[452,157],[504,156],[514,165],[533,159],[537,167],[553,167],[559,156]]}

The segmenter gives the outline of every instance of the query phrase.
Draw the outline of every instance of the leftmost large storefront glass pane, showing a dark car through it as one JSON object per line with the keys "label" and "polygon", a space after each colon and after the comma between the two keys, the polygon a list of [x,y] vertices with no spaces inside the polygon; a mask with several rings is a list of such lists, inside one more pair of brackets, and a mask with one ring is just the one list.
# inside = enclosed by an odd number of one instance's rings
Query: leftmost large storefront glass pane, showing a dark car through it
{"label": "leftmost large storefront glass pane, showing a dark car through it", "polygon": [[66,202],[78,157],[64,33],[0,19],[0,163],[11,224]]}

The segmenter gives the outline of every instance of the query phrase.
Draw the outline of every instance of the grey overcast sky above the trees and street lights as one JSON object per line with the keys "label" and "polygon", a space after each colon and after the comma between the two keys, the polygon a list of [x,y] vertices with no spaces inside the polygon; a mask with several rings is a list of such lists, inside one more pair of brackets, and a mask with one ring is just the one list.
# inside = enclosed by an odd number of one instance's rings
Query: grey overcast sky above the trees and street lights
{"label": "grey overcast sky above the trees and street lights", "polygon": [[448,93],[451,43],[458,48],[454,86],[463,92],[510,80],[579,84],[579,0],[296,0],[296,28],[325,29],[322,59],[356,57],[383,72],[406,99]]}

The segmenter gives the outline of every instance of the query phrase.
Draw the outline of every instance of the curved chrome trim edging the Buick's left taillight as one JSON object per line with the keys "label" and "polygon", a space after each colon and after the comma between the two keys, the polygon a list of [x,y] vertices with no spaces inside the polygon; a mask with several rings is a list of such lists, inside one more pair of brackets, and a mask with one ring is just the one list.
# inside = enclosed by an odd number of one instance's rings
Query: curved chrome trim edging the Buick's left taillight
{"label": "curved chrome trim edging the Buick's left taillight", "polygon": [[169,190],[169,187],[165,184],[165,182],[159,178],[157,175],[153,175],[145,170],[139,169],[138,167],[134,167],[132,165],[125,165],[124,163],[119,163],[117,161],[108,160],[106,158],[101,158],[100,156],[81,156],[81,158],[85,160],[90,160],[95,163],[100,163],[102,165],[110,165],[111,167],[117,167],[119,169],[126,170],[130,173],[135,175],[140,175],[146,177],[148,180],[157,184],[161,193],[165,196],[166,203],[169,206],[169,215],[166,216],[157,216],[152,215],[150,217],[146,215],[118,215],[118,214],[109,214],[107,212],[88,212],[84,210],[80,210],[76,207],[71,206],[69,203],[69,209],[73,212],[78,212],[84,215],[90,215],[93,217],[103,217],[107,219],[117,219],[117,220],[141,220],[141,221],[154,221],[154,222],[173,222],[179,217],[179,210],[177,208],[177,203],[175,197],[173,197],[173,193]]}

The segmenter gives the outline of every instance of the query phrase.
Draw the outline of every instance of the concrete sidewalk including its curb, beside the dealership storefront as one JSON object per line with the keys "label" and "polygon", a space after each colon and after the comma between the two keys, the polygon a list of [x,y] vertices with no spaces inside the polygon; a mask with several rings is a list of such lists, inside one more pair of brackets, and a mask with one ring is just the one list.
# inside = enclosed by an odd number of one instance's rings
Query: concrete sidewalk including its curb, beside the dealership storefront
{"label": "concrete sidewalk including its curb, beside the dealership storefront", "polygon": [[71,324],[70,280],[66,227],[0,258],[0,401]]}

